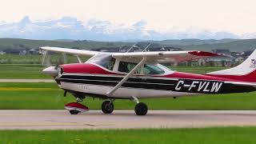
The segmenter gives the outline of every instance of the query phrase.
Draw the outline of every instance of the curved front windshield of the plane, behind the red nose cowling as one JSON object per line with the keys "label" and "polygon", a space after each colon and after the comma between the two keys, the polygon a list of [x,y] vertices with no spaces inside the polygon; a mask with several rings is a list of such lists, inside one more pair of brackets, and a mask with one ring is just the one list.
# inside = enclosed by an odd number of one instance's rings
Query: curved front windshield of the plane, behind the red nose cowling
{"label": "curved front windshield of the plane, behind the red nose cowling", "polygon": [[87,62],[98,64],[99,66],[103,66],[108,70],[113,70],[115,58],[109,54],[97,54],[90,58]]}

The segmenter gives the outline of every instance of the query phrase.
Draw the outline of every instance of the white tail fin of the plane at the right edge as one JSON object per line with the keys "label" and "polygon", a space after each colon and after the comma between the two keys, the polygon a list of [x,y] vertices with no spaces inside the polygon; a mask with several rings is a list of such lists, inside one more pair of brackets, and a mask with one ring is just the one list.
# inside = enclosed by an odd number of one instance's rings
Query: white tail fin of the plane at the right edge
{"label": "white tail fin of the plane at the right edge", "polygon": [[250,74],[254,70],[256,70],[256,50],[254,50],[254,52],[250,54],[250,56],[238,66],[235,66],[233,68],[226,69],[226,70],[218,70],[218,71],[210,72],[207,74],[242,76],[242,75]]}

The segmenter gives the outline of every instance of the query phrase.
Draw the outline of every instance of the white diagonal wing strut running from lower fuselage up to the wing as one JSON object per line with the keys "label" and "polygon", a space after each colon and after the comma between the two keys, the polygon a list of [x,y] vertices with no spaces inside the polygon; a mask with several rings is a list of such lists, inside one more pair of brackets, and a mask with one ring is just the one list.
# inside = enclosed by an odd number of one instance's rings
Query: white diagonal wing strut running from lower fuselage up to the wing
{"label": "white diagonal wing strut running from lower fuselage up to the wing", "polygon": [[109,92],[106,93],[106,96],[110,97],[112,94],[114,94],[114,92],[115,92],[116,90],[118,90],[118,88],[119,88],[120,86],[122,86],[122,84],[123,84],[124,82],[126,82],[126,80],[127,80],[128,78],[130,78],[130,76],[131,76],[132,74],[134,74],[135,70],[137,70],[139,66],[142,66],[145,61],[146,61],[146,58],[142,58],[141,62],[138,62],[138,64],[134,67],[134,69],[133,69],[133,70],[130,70],[130,73],[128,73],[124,78],[122,78],[122,80],[121,80],[120,82],[118,82],[118,84],[117,84],[116,86],[114,86],[114,88],[113,88],[112,90],[110,90]]}

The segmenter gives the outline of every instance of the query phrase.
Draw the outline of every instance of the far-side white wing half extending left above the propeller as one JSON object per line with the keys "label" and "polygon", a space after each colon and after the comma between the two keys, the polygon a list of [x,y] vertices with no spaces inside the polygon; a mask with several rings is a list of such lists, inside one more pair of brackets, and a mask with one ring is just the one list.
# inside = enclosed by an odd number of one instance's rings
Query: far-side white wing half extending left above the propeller
{"label": "far-side white wing half extending left above the propeller", "polygon": [[65,54],[74,54],[74,55],[86,55],[86,56],[94,56],[96,54],[100,54],[101,52],[98,51],[90,51],[90,50],[77,50],[77,49],[68,49],[68,48],[60,48],[60,47],[41,47],[42,50],[49,50],[58,53],[65,53]]}

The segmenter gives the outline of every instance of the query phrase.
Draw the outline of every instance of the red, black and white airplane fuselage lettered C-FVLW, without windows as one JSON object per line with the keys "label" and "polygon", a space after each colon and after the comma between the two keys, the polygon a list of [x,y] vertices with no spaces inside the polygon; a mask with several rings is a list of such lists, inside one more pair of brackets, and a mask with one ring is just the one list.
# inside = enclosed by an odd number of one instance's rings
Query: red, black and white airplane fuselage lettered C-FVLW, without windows
{"label": "red, black and white airplane fuselage lettered C-FVLW, without windows", "polygon": [[[178,97],[197,94],[227,94],[254,91],[253,86],[236,85],[244,79],[232,79],[210,74],[189,74],[168,70],[162,74],[134,74],[114,92],[113,98],[159,98]],[[114,88],[126,76],[125,73],[108,70],[95,63],[62,65],[62,74],[56,79],[63,90],[82,94],[101,95]],[[250,82],[250,80],[248,80]]]}

